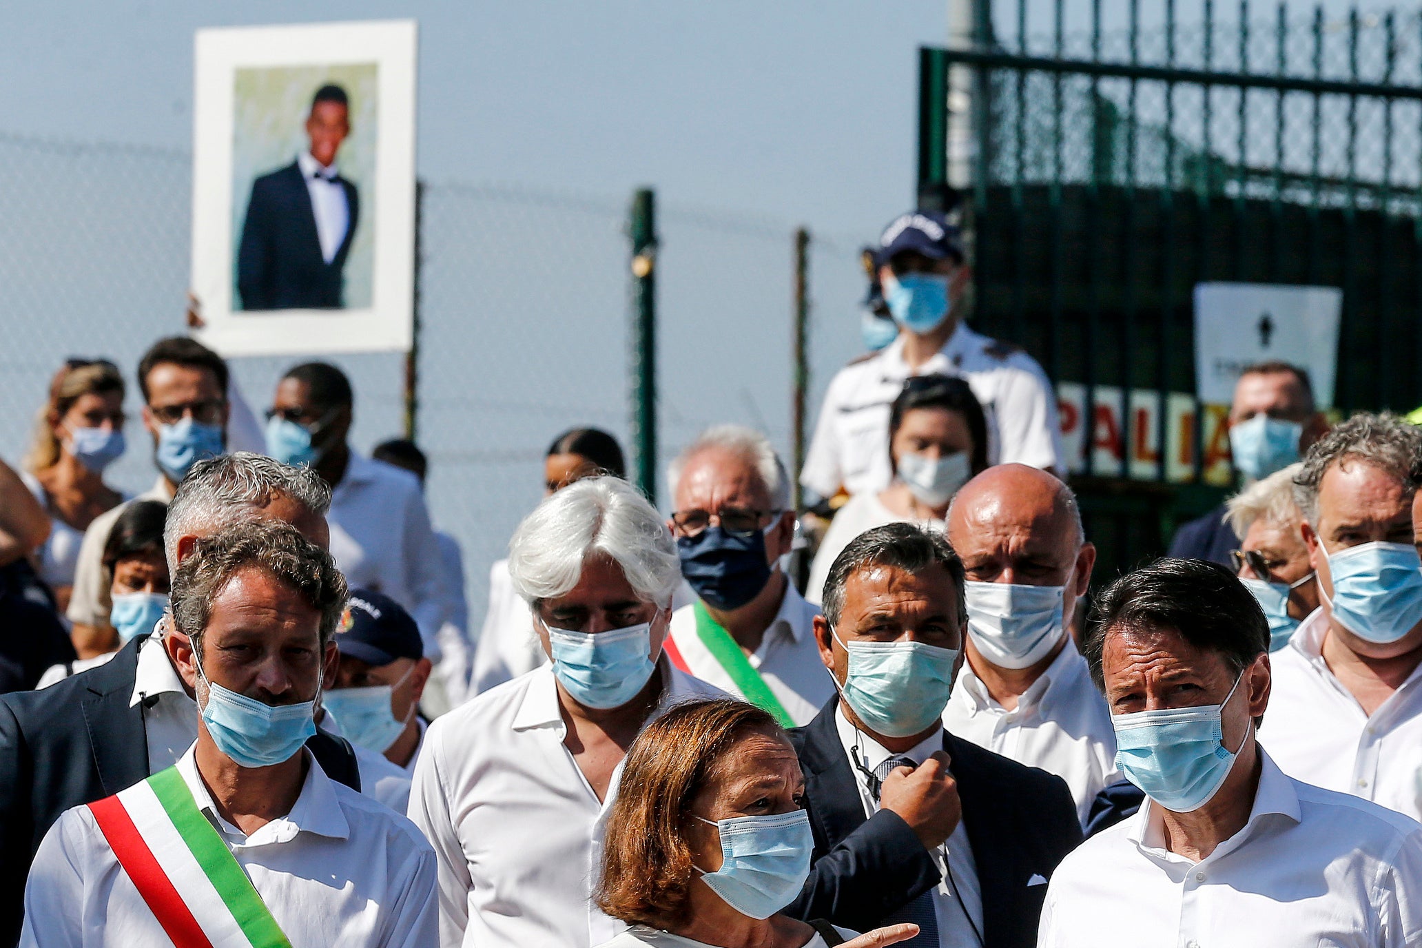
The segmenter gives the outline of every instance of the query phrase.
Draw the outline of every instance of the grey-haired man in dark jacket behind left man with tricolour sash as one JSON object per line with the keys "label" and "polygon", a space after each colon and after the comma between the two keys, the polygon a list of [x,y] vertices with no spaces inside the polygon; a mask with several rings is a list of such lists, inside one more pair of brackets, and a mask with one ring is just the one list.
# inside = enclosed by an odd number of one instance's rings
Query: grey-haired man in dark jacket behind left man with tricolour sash
{"label": "grey-haired man in dark jacket behind left man with tricolour sash", "polygon": [[[169,571],[201,537],[250,520],[283,520],[326,546],[328,505],[330,490],[309,469],[246,452],[201,460],[168,506]],[[107,665],[0,696],[0,945],[18,938],[26,873],[60,814],[171,767],[196,739],[192,686],[164,648],[168,621]],[[360,789],[346,740],[317,732],[307,746],[331,779]]]}

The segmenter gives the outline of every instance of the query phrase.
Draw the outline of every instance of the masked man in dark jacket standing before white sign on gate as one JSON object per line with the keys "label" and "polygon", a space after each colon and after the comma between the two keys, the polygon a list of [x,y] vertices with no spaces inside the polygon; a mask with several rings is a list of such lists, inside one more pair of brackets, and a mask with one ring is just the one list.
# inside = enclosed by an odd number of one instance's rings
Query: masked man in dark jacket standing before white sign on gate
{"label": "masked man in dark jacket standing before white sign on gate", "polygon": [[[1298,460],[1325,431],[1328,421],[1314,402],[1305,370],[1271,361],[1240,372],[1230,405],[1230,456],[1243,486]],[[1221,503],[1176,530],[1170,556],[1233,566],[1230,551],[1239,544]]]}

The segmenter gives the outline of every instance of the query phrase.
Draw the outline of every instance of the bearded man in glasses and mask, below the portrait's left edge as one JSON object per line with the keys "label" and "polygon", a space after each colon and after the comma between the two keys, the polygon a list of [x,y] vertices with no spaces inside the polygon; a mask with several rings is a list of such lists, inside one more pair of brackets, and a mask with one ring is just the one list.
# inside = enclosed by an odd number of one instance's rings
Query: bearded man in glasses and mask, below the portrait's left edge
{"label": "bearded man in glasses and mask, below the portrait's left edge", "polygon": [[[144,428],[154,439],[158,482],[135,500],[168,503],[195,463],[226,448],[228,364],[208,347],[183,335],[158,340],[138,362],[138,389],[144,395]],[[108,583],[104,580],[104,544],[125,505],[101,513],[84,532],[74,570],[67,615],[80,658],[109,648]]]}

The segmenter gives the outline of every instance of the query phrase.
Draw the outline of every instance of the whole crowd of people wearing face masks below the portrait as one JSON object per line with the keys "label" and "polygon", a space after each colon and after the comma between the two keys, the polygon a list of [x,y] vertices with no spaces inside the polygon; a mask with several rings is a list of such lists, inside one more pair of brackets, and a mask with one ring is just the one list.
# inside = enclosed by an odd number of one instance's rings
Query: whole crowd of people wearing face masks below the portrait
{"label": "whole crowd of people wearing face masks below the portrait", "polygon": [[758,431],[665,512],[565,432],[476,637],[338,370],[263,428],[159,341],[127,496],[125,378],[67,364],[0,466],[0,945],[1422,944],[1422,428],[1249,367],[1237,493],[1092,587],[957,230],[873,264],[815,516]]}

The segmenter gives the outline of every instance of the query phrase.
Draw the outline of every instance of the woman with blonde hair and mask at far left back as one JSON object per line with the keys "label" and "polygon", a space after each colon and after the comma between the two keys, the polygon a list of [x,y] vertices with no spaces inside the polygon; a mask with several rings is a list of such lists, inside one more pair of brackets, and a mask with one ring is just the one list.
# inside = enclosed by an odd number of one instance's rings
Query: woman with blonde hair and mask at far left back
{"label": "woman with blonde hair and mask at far left back", "polygon": [[71,358],[50,382],[24,459],[24,483],[50,515],[50,536],[34,551],[40,578],[68,608],[84,530],[124,496],[104,469],[124,453],[124,377],[108,360]]}

